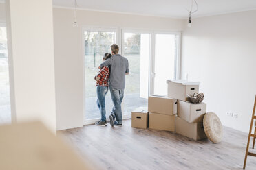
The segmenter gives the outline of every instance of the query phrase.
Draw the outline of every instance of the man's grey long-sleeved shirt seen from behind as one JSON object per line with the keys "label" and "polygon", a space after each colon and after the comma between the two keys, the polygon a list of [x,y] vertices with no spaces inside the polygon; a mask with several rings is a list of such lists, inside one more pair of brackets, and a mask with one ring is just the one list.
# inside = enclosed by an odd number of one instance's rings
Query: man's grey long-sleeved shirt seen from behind
{"label": "man's grey long-sleeved shirt seen from behind", "polygon": [[109,86],[116,89],[125,89],[125,73],[129,73],[128,60],[120,54],[100,64],[100,67],[110,66]]}

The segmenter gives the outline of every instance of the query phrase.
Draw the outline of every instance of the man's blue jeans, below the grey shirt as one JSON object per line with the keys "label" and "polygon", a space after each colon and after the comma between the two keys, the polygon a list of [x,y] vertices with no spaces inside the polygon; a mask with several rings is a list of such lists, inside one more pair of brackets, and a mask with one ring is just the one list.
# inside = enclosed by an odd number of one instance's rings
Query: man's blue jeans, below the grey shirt
{"label": "man's blue jeans, below the grey shirt", "polygon": [[122,123],[122,98],[124,97],[124,89],[115,89],[109,86],[111,99],[113,101],[114,107],[111,114],[116,118],[118,123]]}

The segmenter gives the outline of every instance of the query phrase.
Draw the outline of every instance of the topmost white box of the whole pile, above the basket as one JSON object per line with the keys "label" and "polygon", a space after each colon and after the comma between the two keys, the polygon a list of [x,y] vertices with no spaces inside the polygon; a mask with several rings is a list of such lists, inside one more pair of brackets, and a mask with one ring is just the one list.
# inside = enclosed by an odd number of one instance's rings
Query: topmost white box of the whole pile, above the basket
{"label": "topmost white box of the whole pile, above the basket", "polygon": [[188,95],[198,93],[200,82],[187,82],[186,80],[167,80],[168,97],[186,101]]}

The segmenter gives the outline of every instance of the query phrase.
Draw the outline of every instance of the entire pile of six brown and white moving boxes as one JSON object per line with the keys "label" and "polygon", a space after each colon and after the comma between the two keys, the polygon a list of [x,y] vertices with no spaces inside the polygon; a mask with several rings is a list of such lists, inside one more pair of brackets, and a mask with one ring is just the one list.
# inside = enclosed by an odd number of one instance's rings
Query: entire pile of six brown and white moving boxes
{"label": "entire pile of six brown and white moving boxes", "polygon": [[167,80],[168,95],[149,96],[148,108],[131,112],[131,126],[177,132],[194,140],[206,138],[202,121],[206,104],[186,102],[188,95],[199,91],[199,82]]}

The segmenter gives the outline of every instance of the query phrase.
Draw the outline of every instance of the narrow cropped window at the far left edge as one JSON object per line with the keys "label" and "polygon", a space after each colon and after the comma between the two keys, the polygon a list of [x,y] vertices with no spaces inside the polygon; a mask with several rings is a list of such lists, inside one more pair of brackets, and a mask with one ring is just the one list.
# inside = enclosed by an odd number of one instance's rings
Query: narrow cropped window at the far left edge
{"label": "narrow cropped window at the far left edge", "polygon": [[0,27],[0,124],[11,122],[6,27]]}

